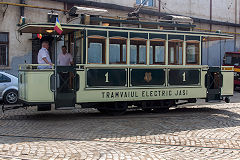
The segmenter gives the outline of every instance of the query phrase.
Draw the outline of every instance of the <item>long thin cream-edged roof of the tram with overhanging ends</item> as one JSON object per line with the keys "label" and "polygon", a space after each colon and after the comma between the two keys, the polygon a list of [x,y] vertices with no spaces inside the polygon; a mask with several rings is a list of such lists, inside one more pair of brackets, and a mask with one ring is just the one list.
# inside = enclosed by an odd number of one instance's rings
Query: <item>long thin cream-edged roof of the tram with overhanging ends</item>
{"label": "long thin cream-edged roof of the tram with overhanging ends", "polygon": [[[114,30],[125,32],[149,32],[156,34],[182,34],[192,36],[202,36],[203,41],[215,41],[223,39],[232,39],[233,35],[211,33],[211,32],[196,32],[196,31],[180,31],[180,30],[160,30],[160,29],[148,29],[148,28],[129,28],[129,27],[115,27],[115,26],[99,26],[99,25],[84,25],[84,24],[61,24],[63,33],[68,34],[79,29],[97,29],[97,30]],[[54,23],[30,23],[21,26],[18,31],[21,33],[34,33],[34,34],[53,34],[49,31],[54,31]]]}

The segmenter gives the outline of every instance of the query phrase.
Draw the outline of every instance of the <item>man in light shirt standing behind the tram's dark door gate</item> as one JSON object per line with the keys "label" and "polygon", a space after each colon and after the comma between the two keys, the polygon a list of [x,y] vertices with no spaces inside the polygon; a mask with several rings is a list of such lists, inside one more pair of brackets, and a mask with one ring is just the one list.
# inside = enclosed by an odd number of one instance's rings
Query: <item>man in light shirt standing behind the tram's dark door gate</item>
{"label": "man in light shirt standing behind the tram's dark door gate", "polygon": [[62,53],[58,55],[59,66],[71,66],[73,65],[73,57],[70,53],[67,53],[67,47],[62,46]]}

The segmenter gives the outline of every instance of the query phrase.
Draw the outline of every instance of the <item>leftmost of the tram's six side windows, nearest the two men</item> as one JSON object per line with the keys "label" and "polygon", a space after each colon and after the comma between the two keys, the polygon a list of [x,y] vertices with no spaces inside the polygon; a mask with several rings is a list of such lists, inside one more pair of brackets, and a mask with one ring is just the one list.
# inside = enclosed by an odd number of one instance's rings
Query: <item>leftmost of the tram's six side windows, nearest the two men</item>
{"label": "leftmost of the tram's six side windows, nearest the two men", "polygon": [[105,64],[106,40],[105,38],[88,38],[88,63]]}

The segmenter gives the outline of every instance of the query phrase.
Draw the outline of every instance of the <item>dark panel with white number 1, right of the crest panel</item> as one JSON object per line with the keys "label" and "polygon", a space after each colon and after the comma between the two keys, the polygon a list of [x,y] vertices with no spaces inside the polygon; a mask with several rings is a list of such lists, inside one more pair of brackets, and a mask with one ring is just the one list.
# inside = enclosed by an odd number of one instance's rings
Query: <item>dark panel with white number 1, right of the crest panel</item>
{"label": "dark panel with white number 1, right of the crest panel", "polygon": [[170,69],[168,84],[171,86],[200,85],[200,69]]}

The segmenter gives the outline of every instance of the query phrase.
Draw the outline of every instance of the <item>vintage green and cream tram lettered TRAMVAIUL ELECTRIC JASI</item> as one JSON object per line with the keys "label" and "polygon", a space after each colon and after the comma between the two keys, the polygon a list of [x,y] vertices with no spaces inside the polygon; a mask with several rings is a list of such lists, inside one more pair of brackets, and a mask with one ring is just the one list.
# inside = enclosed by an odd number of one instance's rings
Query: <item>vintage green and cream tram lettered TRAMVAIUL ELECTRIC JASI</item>
{"label": "vintage green and cream tram lettered TRAMVAIUL ELECTRIC JASI", "polygon": [[[26,24],[19,31],[49,34],[53,28],[54,24]],[[128,106],[161,111],[180,100],[228,102],[233,95],[233,67],[202,65],[203,42],[231,39],[230,35],[85,24],[62,28],[65,45],[73,48],[74,66],[19,68],[19,99],[38,110],[80,104],[105,113],[123,113]]]}

